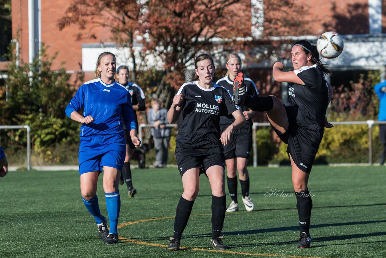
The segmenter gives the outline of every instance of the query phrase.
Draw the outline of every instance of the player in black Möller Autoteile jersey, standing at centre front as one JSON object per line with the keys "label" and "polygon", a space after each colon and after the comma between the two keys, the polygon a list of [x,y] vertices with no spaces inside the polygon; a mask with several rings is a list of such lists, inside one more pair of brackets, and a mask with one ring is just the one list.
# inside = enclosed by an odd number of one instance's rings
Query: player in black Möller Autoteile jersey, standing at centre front
{"label": "player in black M\u00f6ller Autoteile jersey, standing at centre front", "polygon": [[[181,86],[168,111],[169,123],[174,123],[182,111],[183,121],[176,137],[176,160],[184,188],[168,250],[179,249],[181,235],[198,195],[201,173],[209,178],[212,189],[212,247],[224,250],[227,246],[220,233],[227,207],[222,145],[229,143],[234,130],[244,126],[245,117],[232,102],[229,92],[212,82],[215,66],[210,55],[199,55],[195,68],[195,77]],[[220,133],[220,116],[230,114],[234,122]]]}

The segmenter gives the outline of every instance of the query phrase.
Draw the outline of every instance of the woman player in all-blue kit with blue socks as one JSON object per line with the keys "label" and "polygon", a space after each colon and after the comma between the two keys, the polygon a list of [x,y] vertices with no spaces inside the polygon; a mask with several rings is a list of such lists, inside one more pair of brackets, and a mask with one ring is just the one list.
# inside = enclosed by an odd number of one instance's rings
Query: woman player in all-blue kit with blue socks
{"label": "woman player in all-blue kit with blue socks", "polygon": [[[105,244],[118,243],[120,210],[119,177],[125,160],[125,139],[122,118],[135,145],[136,137],[130,94],[114,80],[115,55],[103,52],[98,56],[95,79],[85,82],[66,107],[66,115],[82,123],[80,127],[79,173],[80,191],[87,210],[98,224],[100,238]],[[83,115],[78,112],[84,108]],[[122,116],[122,117],[121,117]],[[98,176],[103,170],[107,219],[100,213],[97,192]]]}

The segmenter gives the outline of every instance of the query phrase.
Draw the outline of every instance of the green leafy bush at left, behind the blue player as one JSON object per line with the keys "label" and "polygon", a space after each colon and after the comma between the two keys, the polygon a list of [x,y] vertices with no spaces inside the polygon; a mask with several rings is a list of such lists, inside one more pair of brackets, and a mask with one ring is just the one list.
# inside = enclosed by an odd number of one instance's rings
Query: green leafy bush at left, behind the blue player
{"label": "green leafy bush at left, behind the blue player", "polygon": [[[79,125],[64,115],[64,109],[73,96],[70,75],[64,68],[51,70],[55,57],[47,56],[46,48],[42,46],[32,64],[17,66],[16,57],[11,55],[6,89],[2,87],[0,91],[2,124],[29,125],[32,148],[42,152],[55,144],[79,142]],[[29,71],[32,71],[31,75]],[[22,131],[0,131],[3,146],[25,145],[25,135],[20,137]]]}

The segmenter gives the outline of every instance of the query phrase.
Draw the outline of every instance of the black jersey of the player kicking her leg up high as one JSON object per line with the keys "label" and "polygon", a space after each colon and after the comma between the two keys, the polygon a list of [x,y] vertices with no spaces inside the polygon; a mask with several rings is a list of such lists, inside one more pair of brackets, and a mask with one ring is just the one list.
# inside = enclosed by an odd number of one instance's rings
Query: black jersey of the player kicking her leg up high
{"label": "black jersey of the player kicking her leg up high", "polygon": [[301,127],[323,132],[328,106],[328,86],[324,74],[318,65],[303,66],[294,72],[305,85],[289,85],[288,118]]}

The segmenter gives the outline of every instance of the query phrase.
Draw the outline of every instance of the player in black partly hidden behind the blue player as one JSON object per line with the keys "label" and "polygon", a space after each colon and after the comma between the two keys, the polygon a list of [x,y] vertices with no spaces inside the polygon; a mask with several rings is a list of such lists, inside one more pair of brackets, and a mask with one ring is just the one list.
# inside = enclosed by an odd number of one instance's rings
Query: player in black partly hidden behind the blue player
{"label": "player in black partly hidden behind the blue player", "polygon": [[[145,94],[142,89],[135,83],[129,82],[129,67],[125,65],[121,65],[117,68],[117,79],[118,82],[126,87],[126,89],[130,93],[131,104],[134,110],[134,120],[138,125],[137,113],[136,111],[144,111],[146,109],[146,104],[144,99]],[[130,198],[134,197],[137,190],[134,188],[131,177],[131,169],[130,169],[130,158],[134,152],[134,144],[131,141],[131,137],[129,132],[127,132],[126,127],[124,126],[125,132],[125,142],[126,142],[126,156],[123,164],[122,174],[120,177],[120,184],[123,185],[123,182],[126,182],[127,193]],[[122,183],[121,183],[122,182]]]}

